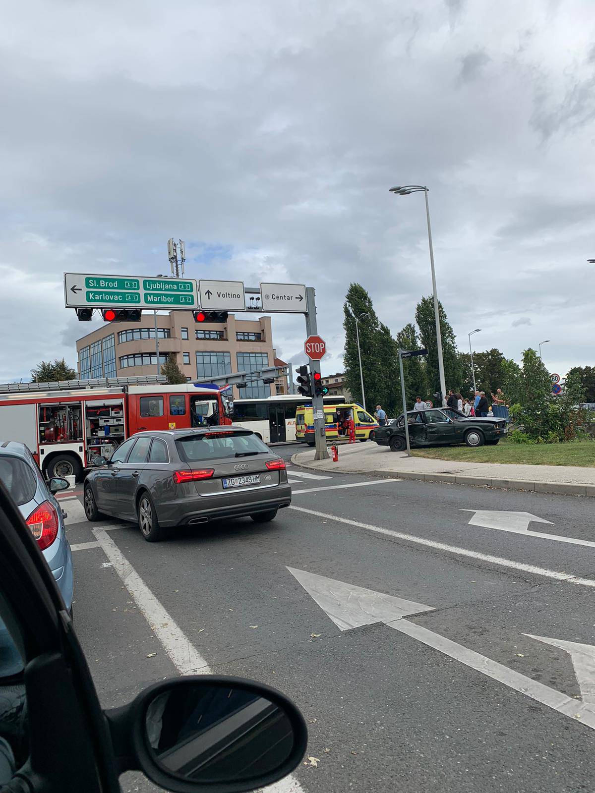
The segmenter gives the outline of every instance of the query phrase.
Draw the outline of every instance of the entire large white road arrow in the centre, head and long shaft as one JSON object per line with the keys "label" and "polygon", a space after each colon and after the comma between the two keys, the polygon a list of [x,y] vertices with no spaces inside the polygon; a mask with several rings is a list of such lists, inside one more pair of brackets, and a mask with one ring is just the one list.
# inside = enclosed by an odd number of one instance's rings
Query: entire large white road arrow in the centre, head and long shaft
{"label": "entire large white road arrow in the centre, head and long shaft", "polygon": [[[318,603],[333,623],[340,630],[352,630],[354,627],[384,623],[385,625],[417,639],[428,647],[437,649],[440,653],[460,661],[462,664],[481,672],[482,675],[491,677],[499,683],[505,684],[515,691],[520,691],[537,702],[551,707],[570,718],[580,719],[585,726],[595,730],[595,708],[589,703],[578,702],[555,688],[538,683],[530,677],[521,675],[507,666],[493,661],[491,658],[476,653],[457,642],[452,642],[445,636],[434,633],[424,626],[410,623],[403,619],[419,611],[432,611],[431,606],[423,603],[412,603],[409,600],[374,592],[372,589],[355,587],[344,581],[336,581],[305,570],[287,568],[309,596]],[[414,611],[416,610],[417,611]]]}

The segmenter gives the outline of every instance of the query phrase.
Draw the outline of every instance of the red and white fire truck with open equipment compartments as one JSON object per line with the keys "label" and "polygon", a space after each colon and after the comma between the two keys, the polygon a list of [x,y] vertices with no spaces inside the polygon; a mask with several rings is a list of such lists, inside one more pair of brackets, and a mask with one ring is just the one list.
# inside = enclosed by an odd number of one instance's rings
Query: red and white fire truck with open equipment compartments
{"label": "red and white fire truck with open equipment compartments", "polygon": [[0,385],[0,442],[25,443],[48,477],[80,479],[135,432],[203,423],[232,423],[217,385],[159,375]]}

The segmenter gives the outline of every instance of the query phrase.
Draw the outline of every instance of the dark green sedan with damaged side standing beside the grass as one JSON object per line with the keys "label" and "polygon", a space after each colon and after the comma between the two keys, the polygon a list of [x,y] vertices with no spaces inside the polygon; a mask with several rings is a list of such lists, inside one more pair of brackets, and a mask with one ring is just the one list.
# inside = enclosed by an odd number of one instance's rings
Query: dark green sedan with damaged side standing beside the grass
{"label": "dark green sedan with damaged side standing beside the grass", "polygon": [[[487,416],[465,416],[451,408],[429,408],[407,412],[409,445],[447,446],[466,443],[467,446],[495,446],[507,433],[505,419]],[[391,451],[406,448],[405,420],[403,414],[386,427],[378,427],[374,433],[378,446],[390,446]]]}

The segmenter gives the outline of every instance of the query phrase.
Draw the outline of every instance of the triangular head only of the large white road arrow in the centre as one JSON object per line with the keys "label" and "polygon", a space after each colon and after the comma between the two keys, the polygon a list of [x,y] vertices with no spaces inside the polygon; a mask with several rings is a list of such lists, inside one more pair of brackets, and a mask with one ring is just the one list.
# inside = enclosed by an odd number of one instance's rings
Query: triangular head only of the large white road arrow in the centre
{"label": "triangular head only of the large white road arrow in the centre", "polygon": [[424,603],[345,584],[344,581],[317,576],[307,570],[287,569],[341,630],[390,623],[397,617],[434,611],[432,606],[424,606]]}

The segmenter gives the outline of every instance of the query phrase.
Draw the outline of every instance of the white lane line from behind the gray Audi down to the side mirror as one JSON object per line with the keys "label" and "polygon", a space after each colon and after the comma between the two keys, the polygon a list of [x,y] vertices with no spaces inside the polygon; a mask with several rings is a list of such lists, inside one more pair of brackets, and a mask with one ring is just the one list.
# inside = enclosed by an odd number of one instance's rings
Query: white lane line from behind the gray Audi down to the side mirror
{"label": "white lane line from behind the gray Audi down to the side mirror", "polygon": [[[144,580],[136,573],[128,559],[107,534],[107,531],[114,528],[117,527],[96,526],[93,529],[93,534],[97,538],[98,545],[102,547],[106,557],[111,561],[113,569],[132,595],[132,599],[142,611],[153,633],[163,645],[163,649],[171,658],[175,668],[182,675],[209,675],[211,670],[201,653],[198,652],[198,649],[190,642],[190,639],[175,623],[175,620],[159,603],[159,600],[153,595]],[[271,793],[305,793],[293,774],[289,774],[284,779],[268,785],[263,790],[271,791]]]}

